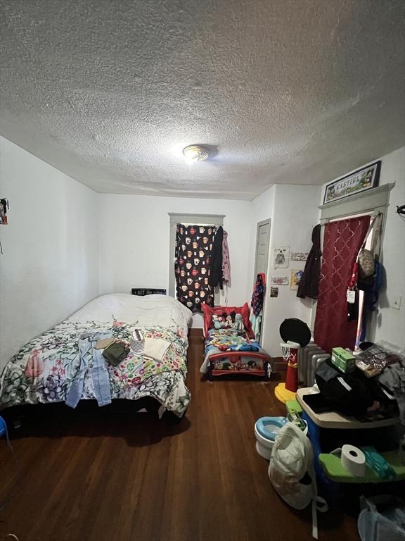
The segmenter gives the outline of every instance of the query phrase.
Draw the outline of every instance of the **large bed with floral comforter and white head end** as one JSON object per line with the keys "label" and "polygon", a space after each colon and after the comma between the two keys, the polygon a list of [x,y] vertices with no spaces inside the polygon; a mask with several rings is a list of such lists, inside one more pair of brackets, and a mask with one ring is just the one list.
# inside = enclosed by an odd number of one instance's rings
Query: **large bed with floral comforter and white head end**
{"label": "large bed with floral comforter and white head end", "polygon": [[[110,397],[150,397],[159,402],[160,416],[167,410],[181,418],[190,402],[185,378],[191,317],[186,306],[159,294],[102,295],[35,337],[13,356],[0,377],[0,410],[22,404],[65,402],[82,363],[79,338],[86,333],[107,332],[125,344],[136,328],[146,338],[167,340],[169,347],[160,362],[129,350],[118,366],[105,363]],[[84,400],[96,398],[91,355],[89,352],[89,370],[80,396]]]}

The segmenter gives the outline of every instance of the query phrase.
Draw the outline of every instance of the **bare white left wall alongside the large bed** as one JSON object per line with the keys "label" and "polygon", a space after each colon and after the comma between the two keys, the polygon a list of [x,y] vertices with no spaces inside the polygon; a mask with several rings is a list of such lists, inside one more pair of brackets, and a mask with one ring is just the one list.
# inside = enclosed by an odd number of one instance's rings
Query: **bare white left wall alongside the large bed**
{"label": "bare white left wall alongside the large bed", "polygon": [[98,294],[96,193],[0,138],[0,369]]}

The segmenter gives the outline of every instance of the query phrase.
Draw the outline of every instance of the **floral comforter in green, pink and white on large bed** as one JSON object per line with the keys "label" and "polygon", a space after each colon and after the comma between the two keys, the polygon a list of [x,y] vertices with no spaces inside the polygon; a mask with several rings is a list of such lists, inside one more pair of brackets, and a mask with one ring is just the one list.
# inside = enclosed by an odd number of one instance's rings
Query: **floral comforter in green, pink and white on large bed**
{"label": "floral comforter in green, pink and white on large bed", "polygon": [[[65,402],[72,380],[80,366],[78,339],[84,332],[111,330],[117,339],[129,342],[133,323],[114,321],[63,321],[26,344],[13,356],[0,377],[0,409],[15,404]],[[190,402],[186,378],[188,342],[173,330],[143,328],[148,338],[170,342],[160,362],[130,352],[118,366],[108,366],[111,398],[137,400],[153,397],[176,416],[183,416]],[[89,370],[84,376],[82,399],[94,399]]]}

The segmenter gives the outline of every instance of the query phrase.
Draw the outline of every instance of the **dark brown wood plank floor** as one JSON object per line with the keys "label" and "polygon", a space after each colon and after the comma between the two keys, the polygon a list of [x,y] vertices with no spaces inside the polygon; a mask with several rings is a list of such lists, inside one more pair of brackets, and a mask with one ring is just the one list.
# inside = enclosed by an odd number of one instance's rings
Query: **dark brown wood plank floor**
{"label": "dark brown wood plank floor", "polygon": [[[274,492],[253,427],[284,413],[275,382],[200,379],[203,344],[191,339],[191,405],[181,423],[125,411],[75,411],[13,437],[22,466],[0,511],[0,539],[20,541],[311,540],[309,509]],[[15,483],[0,440],[0,499]],[[356,512],[320,516],[321,541],[358,540]]]}

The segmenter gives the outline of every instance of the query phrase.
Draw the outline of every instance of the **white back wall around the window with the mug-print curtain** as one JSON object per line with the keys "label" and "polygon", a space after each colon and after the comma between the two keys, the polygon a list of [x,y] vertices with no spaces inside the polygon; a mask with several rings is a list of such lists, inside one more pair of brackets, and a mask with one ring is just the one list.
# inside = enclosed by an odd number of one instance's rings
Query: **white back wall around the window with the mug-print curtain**
{"label": "white back wall around the window with the mug-print curtain", "polygon": [[[131,287],[169,287],[167,213],[225,214],[231,258],[228,304],[249,300],[250,201],[185,199],[99,194],[100,291],[130,292]],[[250,278],[250,277],[249,277]],[[251,292],[251,290],[250,290]],[[219,302],[224,302],[221,295]],[[193,326],[202,326],[195,315]]]}

